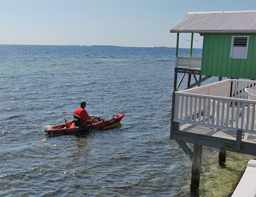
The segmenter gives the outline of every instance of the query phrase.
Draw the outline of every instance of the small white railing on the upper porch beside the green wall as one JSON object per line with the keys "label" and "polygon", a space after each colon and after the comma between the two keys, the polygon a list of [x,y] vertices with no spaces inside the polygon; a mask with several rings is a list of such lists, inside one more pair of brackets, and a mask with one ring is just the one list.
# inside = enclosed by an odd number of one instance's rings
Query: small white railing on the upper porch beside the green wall
{"label": "small white railing on the upper porch beside the green wall", "polygon": [[202,57],[176,57],[176,67],[201,67]]}

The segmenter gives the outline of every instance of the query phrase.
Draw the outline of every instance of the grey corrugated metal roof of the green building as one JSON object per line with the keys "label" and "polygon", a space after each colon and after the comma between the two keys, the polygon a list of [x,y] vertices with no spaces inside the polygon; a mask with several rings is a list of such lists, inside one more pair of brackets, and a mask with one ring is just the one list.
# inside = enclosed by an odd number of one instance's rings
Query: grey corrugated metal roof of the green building
{"label": "grey corrugated metal roof of the green building", "polygon": [[171,33],[256,33],[256,10],[188,12]]}

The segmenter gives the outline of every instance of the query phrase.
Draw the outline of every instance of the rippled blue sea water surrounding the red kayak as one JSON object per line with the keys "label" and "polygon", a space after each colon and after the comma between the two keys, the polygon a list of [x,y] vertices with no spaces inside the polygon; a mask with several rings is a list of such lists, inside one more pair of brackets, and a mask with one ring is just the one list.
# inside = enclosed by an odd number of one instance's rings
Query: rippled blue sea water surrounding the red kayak
{"label": "rippled blue sea water surrounding the red kayak", "polygon": [[[0,196],[229,196],[251,156],[204,148],[201,183],[169,139],[173,48],[0,45]],[[189,55],[189,49],[180,49]],[[201,55],[195,49],[194,55]],[[85,100],[121,126],[49,137]]]}

